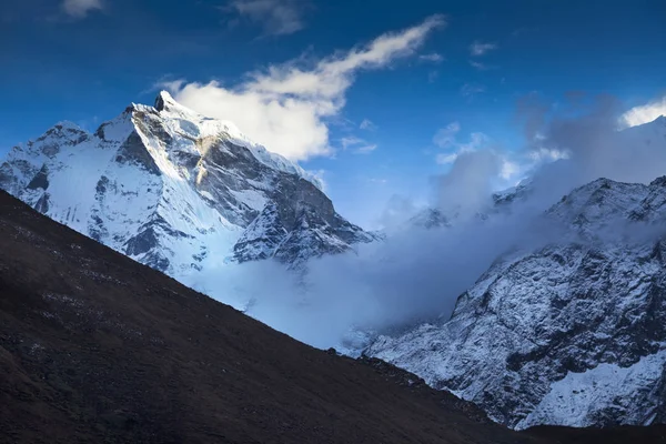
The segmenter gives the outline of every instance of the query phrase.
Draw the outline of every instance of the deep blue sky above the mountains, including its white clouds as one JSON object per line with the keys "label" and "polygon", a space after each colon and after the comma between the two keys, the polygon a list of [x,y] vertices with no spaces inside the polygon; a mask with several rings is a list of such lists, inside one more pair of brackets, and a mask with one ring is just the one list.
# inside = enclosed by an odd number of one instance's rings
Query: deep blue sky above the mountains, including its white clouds
{"label": "deep blue sky above the mountains, including its white clouds", "polygon": [[9,0],[0,152],[170,88],[321,171],[339,211],[374,226],[394,194],[431,199],[461,151],[518,152],[528,94],[659,100],[664,22],[660,0]]}

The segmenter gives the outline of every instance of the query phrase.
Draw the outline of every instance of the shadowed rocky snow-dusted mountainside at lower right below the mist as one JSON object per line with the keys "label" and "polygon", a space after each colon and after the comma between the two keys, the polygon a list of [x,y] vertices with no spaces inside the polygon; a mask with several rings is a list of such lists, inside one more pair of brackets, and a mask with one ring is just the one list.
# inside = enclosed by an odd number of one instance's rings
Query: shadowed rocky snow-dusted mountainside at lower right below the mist
{"label": "shadowed rocky snow-dusted mountainside at lower right below the mist", "polygon": [[516,428],[666,421],[666,178],[597,180],[545,219],[565,238],[500,258],[448,321],[366,353]]}

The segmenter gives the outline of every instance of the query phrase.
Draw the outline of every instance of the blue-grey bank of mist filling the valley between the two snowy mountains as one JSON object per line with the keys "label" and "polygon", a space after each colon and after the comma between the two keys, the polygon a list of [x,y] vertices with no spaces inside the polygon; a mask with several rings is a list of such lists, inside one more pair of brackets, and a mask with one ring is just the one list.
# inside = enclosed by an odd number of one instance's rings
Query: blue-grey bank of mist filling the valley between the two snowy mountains
{"label": "blue-grey bank of mist filling the valley between the two snowy mountains", "polygon": [[[451,228],[415,226],[408,219],[423,208],[395,196],[383,215],[393,228],[386,241],[313,260],[301,283],[280,265],[262,262],[212,270],[190,284],[324,349],[342,344],[354,351],[376,332],[447,319],[457,296],[500,255],[562,241],[566,231],[541,214],[575,186],[599,176],[646,183],[666,172],[666,125],[618,132],[620,113],[605,99],[547,119],[543,111],[521,107],[529,137],[519,152],[478,148],[432,179],[430,206],[450,218]],[[437,140],[448,147],[460,131],[453,122]],[[512,157],[528,174],[531,192],[511,211],[493,211],[492,193]]]}

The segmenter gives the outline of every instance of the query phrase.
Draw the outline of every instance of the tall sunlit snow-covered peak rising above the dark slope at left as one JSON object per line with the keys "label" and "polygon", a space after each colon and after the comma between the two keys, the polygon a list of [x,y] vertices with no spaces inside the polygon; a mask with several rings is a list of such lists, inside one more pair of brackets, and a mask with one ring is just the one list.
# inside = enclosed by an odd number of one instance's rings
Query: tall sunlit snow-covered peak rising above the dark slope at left
{"label": "tall sunlit snow-covered peak rising above the dark slope at left", "polygon": [[311,174],[167,92],[94,134],[62,122],[13,148],[0,186],[175,278],[268,258],[297,268],[374,240]]}

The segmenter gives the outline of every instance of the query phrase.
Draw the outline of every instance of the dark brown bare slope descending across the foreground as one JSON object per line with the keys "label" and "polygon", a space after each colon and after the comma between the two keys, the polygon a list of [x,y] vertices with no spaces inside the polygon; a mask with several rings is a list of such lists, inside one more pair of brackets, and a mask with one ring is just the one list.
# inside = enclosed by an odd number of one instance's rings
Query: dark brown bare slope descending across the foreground
{"label": "dark brown bare slope descending across the foreground", "polygon": [[527,444],[597,435],[491,424],[408,374],[301,344],[0,192],[0,442]]}

